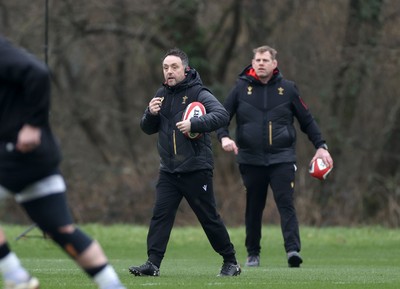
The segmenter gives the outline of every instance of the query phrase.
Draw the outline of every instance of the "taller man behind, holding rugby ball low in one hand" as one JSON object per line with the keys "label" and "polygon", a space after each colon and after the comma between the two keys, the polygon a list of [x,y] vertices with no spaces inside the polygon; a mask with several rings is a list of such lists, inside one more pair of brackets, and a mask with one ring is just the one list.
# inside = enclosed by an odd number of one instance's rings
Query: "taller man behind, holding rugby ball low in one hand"
{"label": "taller man behind, holding rugby ball low in one hand", "polygon": [[271,186],[281,217],[284,247],[289,267],[299,267],[299,225],[294,207],[296,171],[296,131],[294,118],[316,148],[313,162],[333,160],[320,129],[296,85],[283,78],[278,69],[276,50],[269,46],[254,49],[248,65],[224,102],[230,119],[236,115],[236,142],[228,126],[217,131],[222,148],[237,155],[240,174],[246,187],[247,266],[259,266],[262,215]]}

